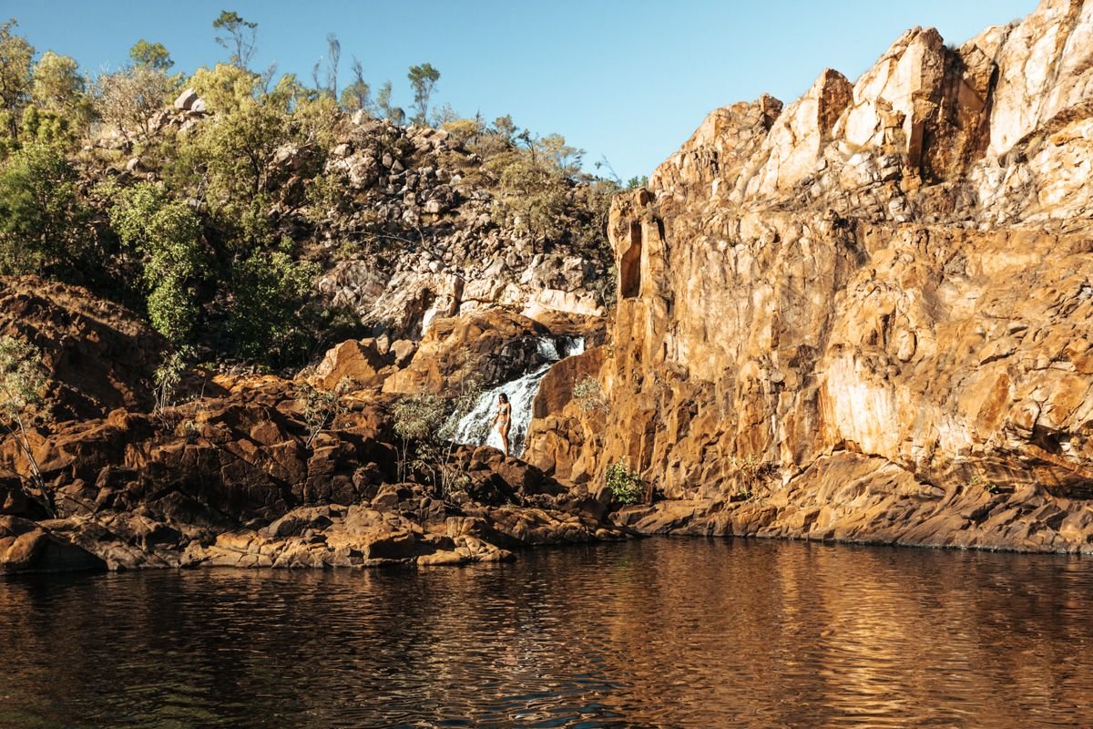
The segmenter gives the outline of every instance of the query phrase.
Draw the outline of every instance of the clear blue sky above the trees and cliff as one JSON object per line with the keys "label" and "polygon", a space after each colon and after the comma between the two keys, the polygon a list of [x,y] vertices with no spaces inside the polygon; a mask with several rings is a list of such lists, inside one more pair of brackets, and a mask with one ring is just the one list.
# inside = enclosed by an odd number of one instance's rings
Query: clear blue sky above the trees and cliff
{"label": "clear blue sky above the trees and cliff", "polygon": [[91,72],[128,60],[139,38],[164,44],[176,70],[226,57],[213,40],[222,9],[256,21],[255,64],[275,61],[310,82],[326,36],[373,86],[440,71],[435,99],[465,116],[510,114],[606,156],[621,177],[646,175],[712,109],[766,92],[785,102],[825,67],[851,80],[906,28],[935,26],[963,43],[1032,12],[1035,0],[0,0],[39,51],[73,56]]}

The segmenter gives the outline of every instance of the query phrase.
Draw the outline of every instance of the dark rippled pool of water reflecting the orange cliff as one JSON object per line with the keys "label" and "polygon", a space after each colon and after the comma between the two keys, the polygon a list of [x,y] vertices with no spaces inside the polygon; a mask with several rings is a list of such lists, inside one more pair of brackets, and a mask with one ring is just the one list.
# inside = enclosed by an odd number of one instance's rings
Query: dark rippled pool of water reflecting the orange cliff
{"label": "dark rippled pool of water reflecting the orange cliff", "polygon": [[1093,560],[649,540],[0,580],[0,726],[1093,725]]}

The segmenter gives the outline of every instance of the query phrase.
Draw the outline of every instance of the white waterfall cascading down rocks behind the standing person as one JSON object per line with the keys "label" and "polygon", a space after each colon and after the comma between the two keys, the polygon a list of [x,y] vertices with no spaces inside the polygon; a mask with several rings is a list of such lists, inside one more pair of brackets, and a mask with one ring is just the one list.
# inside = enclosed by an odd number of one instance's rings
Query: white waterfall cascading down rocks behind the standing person
{"label": "white waterfall cascading down rocks behind the standing person", "polygon": [[508,428],[508,452],[513,456],[520,456],[524,452],[524,440],[528,436],[528,426],[531,424],[531,403],[536,399],[536,393],[539,392],[539,381],[555,362],[580,354],[584,351],[585,339],[583,337],[540,338],[539,354],[546,360],[546,363],[529,369],[516,379],[502,383],[497,387],[482,392],[474,401],[474,407],[471,408],[470,412],[451,425],[453,439],[456,443],[473,446],[486,445],[500,449],[501,436],[490,425],[493,423],[493,416],[497,413],[497,396],[504,392],[508,396],[513,412],[512,424]]}

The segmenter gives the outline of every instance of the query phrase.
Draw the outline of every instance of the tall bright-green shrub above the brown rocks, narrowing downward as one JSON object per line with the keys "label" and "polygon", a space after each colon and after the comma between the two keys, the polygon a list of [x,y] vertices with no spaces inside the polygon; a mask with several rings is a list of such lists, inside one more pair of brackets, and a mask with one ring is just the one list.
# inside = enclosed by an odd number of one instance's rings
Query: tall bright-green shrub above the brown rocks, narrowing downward
{"label": "tall bright-green shrub above the brown rocks, narrowing downward", "polygon": [[110,226],[144,258],[152,326],[176,346],[187,342],[200,313],[193,280],[203,259],[201,221],[186,203],[141,183],[118,195]]}

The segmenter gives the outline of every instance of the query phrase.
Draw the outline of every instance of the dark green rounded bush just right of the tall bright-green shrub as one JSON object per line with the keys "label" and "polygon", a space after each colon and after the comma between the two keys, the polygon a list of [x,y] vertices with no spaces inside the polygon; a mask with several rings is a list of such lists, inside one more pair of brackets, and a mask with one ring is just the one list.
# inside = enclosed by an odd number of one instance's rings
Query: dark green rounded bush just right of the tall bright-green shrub
{"label": "dark green rounded bush just right of the tall bright-green shrub", "polygon": [[236,353],[273,367],[302,363],[310,341],[305,304],[319,267],[286,250],[258,250],[235,272],[227,330]]}

